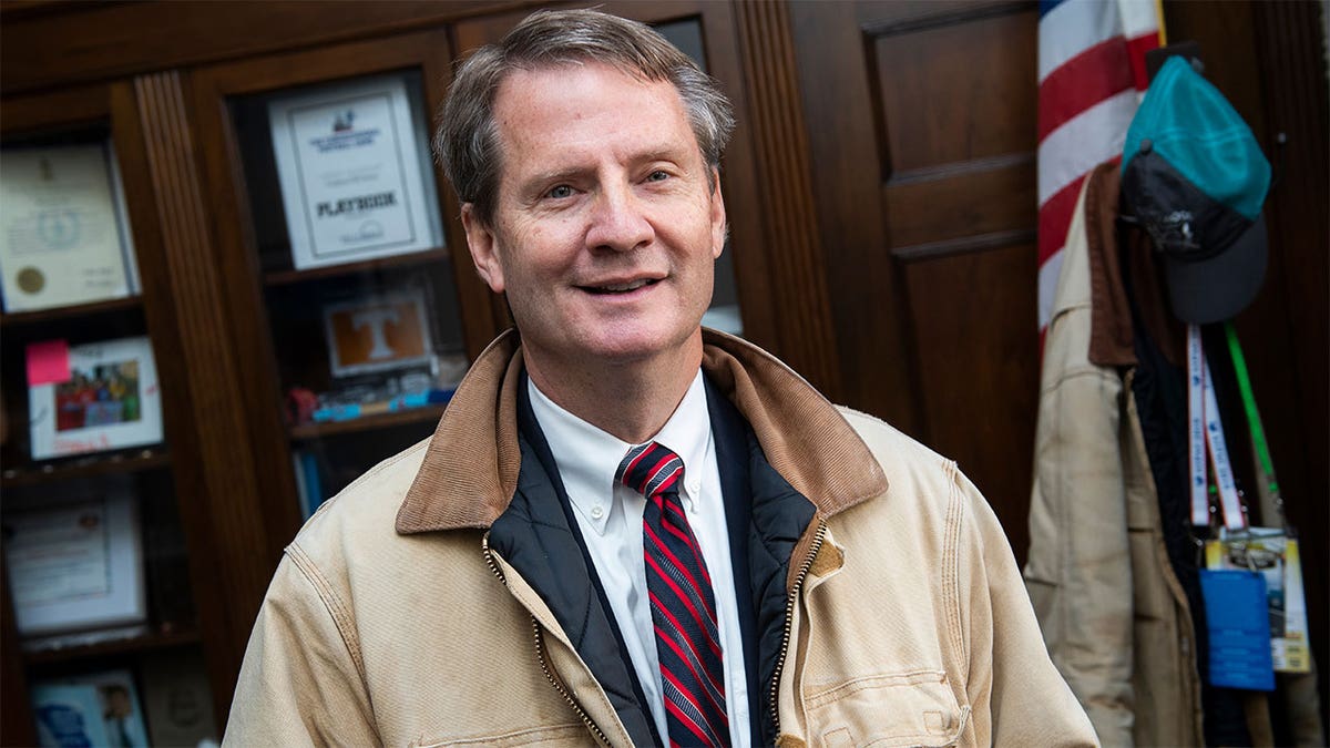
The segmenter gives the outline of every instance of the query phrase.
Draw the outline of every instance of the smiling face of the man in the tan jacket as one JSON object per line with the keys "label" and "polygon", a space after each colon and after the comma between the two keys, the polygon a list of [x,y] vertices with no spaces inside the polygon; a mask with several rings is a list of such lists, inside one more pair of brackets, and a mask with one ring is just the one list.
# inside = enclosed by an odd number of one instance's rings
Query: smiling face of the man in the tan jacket
{"label": "smiling face of the man in the tan jacket", "polygon": [[493,225],[469,205],[463,222],[480,276],[508,294],[528,361],[585,370],[696,343],[725,205],[674,87],[600,64],[519,71],[500,85],[495,118]]}

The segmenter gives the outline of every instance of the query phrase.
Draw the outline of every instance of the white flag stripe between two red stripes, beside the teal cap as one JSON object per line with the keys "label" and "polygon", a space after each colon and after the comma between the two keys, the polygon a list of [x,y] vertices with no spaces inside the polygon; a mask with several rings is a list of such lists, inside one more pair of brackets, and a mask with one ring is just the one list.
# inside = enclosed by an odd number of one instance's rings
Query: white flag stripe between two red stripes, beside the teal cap
{"label": "white flag stripe between two red stripes, beside the teal cap", "polygon": [[1099,164],[1123,154],[1127,125],[1136,113],[1127,89],[1076,114],[1039,144],[1039,204]]}

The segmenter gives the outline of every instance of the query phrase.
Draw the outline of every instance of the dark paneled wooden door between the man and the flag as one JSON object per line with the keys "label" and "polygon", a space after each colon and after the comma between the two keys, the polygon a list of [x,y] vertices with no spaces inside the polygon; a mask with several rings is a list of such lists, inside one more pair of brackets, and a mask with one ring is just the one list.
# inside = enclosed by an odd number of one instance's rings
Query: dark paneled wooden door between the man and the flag
{"label": "dark paneled wooden door between the man and the flag", "polygon": [[1033,3],[791,3],[841,398],[956,459],[1017,556],[1039,387]]}

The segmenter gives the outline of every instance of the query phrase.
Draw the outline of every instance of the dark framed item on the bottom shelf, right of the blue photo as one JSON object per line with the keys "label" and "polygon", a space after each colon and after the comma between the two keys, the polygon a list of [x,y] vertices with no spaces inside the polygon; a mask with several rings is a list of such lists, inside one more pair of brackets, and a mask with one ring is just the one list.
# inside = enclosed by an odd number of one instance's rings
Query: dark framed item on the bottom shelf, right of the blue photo
{"label": "dark framed item on the bottom shelf, right of the blue photo", "polygon": [[200,745],[221,737],[202,655],[193,651],[145,656],[138,667],[152,745]]}

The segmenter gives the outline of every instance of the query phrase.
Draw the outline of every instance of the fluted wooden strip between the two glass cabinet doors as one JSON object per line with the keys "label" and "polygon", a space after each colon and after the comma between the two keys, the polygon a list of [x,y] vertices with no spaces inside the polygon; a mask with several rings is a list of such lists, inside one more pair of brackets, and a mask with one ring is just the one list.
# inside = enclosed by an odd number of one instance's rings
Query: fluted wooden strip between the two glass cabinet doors
{"label": "fluted wooden strip between the two glass cabinet doors", "polygon": [[[176,346],[185,369],[170,379],[162,377],[164,390],[168,382],[188,389],[174,397],[190,406],[188,415],[181,411],[168,422],[172,439],[194,443],[202,454],[200,463],[186,468],[198,484],[186,479],[177,491],[190,539],[192,578],[196,584],[210,580],[209,592],[200,595],[198,614],[211,643],[217,713],[225,717],[247,631],[289,538],[273,528],[290,527],[291,511],[263,500],[265,486],[250,457],[247,422],[254,414],[242,405],[237,346],[223,314],[225,286],[215,270],[180,76],[140,77],[134,96],[145,145],[141,154],[126,157],[145,160],[156,206],[154,220],[145,222],[153,226],[153,244],[160,242],[160,254],[140,264],[145,274],[157,276],[152,293],[145,293],[145,307],[150,325],[173,319],[173,329],[180,330],[177,339],[154,341]],[[144,285],[150,287],[146,278]]]}

